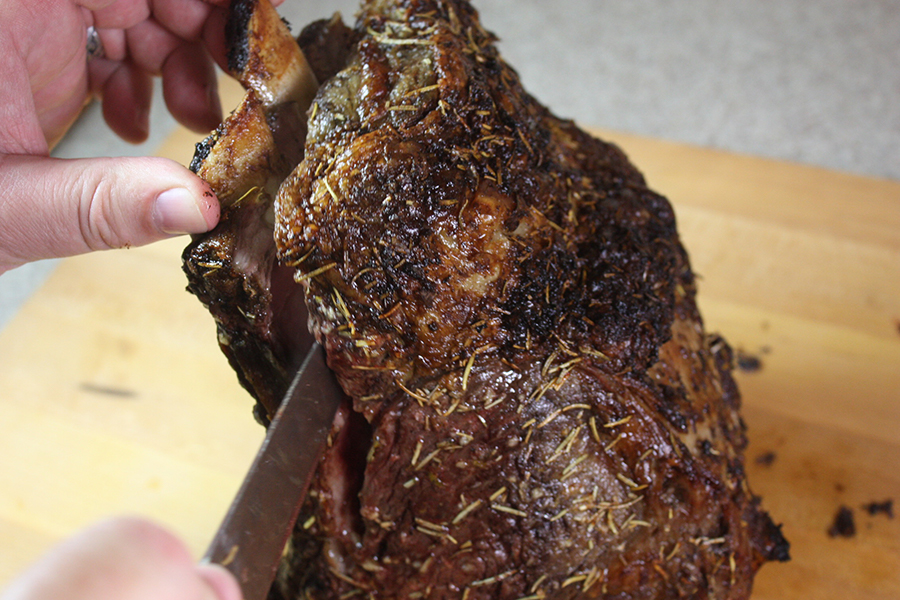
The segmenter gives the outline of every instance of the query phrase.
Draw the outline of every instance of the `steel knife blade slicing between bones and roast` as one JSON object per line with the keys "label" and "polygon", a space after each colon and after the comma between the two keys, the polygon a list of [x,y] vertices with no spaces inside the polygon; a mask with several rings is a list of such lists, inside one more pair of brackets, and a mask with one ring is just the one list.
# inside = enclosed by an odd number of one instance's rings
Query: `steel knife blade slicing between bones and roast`
{"label": "steel knife blade slicing between bones and roast", "polygon": [[244,600],[268,595],[343,398],[313,344],[203,558],[237,578]]}

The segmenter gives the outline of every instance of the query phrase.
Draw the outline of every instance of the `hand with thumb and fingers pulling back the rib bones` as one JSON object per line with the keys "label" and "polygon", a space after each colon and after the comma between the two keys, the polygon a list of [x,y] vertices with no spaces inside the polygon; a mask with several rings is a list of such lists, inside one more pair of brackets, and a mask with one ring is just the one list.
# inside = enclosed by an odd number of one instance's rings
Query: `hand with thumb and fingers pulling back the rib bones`
{"label": "hand with thumb and fingers pulling back the rib bones", "polygon": [[[118,135],[147,137],[152,77],[200,132],[221,120],[228,0],[5,0],[0,5],[0,273],[31,260],[143,245],[215,226],[203,181],[162,158],[58,160],[94,95]],[[279,2],[276,0],[275,4]],[[88,60],[87,27],[105,57]]]}

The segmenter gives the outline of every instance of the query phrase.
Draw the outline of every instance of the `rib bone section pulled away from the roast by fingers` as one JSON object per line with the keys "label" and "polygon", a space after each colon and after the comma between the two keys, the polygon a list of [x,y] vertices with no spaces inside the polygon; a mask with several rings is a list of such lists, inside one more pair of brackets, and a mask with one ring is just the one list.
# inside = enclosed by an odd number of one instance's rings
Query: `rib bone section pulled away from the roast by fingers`
{"label": "rib bone section pulled away from the roast by fingers", "polygon": [[231,8],[229,66],[247,95],[197,144],[191,169],[210,183],[222,215],[183,259],[188,290],[215,317],[219,345],[268,423],[309,337],[302,290],[276,264],[272,196],[303,156],[316,82],[271,4],[235,0]]}

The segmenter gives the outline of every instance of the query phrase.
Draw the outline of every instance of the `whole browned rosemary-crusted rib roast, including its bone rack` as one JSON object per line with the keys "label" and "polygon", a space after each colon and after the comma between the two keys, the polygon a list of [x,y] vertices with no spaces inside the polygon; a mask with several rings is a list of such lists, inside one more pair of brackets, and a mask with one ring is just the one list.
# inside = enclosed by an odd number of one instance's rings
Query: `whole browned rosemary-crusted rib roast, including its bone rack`
{"label": "whole browned rosemary-crusted rib roast, including its bone rack", "polygon": [[228,33],[189,289],[264,424],[307,319],[348,396],[271,598],[748,598],[788,546],[668,201],[465,0]]}

